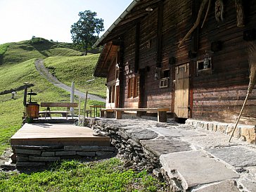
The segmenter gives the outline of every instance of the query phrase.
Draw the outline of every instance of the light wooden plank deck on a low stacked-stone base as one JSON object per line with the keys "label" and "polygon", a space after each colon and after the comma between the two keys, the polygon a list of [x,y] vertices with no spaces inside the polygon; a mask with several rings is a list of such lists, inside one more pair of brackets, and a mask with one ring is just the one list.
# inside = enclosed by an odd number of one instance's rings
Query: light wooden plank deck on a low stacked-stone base
{"label": "light wooden plank deck on a low stacked-stone base", "polygon": [[93,132],[73,124],[26,123],[11,137],[11,146],[110,146],[108,136],[94,136]]}

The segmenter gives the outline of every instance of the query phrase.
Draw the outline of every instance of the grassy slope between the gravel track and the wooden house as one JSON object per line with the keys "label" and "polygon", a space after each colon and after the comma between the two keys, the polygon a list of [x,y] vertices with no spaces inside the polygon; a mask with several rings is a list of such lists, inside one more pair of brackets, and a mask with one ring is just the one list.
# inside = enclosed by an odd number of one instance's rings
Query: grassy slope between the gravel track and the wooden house
{"label": "grassy slope between the gravel track and the wooden house", "polygon": [[[75,82],[75,87],[80,91],[89,91],[105,97],[105,78],[94,79],[94,67],[99,54],[89,56],[60,57],[54,56],[44,60],[44,65],[49,68],[60,82],[71,85]],[[89,81],[94,79],[93,81]],[[89,81],[89,82],[88,82]]]}

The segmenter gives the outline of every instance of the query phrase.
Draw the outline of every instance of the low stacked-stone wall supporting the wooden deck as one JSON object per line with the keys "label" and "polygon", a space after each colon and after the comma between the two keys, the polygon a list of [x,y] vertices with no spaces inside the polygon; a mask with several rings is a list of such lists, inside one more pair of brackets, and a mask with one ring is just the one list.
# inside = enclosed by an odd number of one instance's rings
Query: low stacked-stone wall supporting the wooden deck
{"label": "low stacked-stone wall supporting the wooden deck", "polygon": [[64,159],[106,158],[115,154],[110,146],[12,146],[17,167],[38,167]]}

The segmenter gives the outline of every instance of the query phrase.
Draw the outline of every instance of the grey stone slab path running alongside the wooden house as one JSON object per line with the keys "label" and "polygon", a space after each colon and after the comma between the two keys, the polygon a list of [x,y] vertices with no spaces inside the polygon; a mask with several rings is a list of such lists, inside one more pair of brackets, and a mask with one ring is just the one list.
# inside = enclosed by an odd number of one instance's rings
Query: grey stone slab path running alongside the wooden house
{"label": "grey stone slab path running alongside the wooden house", "polygon": [[176,191],[256,191],[254,144],[174,122],[99,119],[95,127],[153,153]]}

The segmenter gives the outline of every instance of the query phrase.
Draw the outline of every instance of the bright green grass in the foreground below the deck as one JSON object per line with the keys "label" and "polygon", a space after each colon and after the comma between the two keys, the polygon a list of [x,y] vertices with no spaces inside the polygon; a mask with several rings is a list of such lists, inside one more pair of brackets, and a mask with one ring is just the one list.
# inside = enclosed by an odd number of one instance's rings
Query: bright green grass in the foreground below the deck
{"label": "bright green grass in the foreground below the deck", "polygon": [[[134,184],[135,183],[135,184]],[[117,158],[82,163],[75,160],[32,174],[0,174],[0,191],[162,191],[164,184],[146,171],[122,168]]]}

